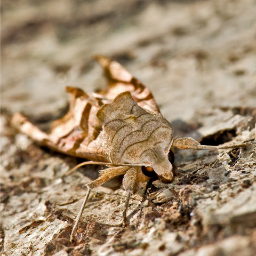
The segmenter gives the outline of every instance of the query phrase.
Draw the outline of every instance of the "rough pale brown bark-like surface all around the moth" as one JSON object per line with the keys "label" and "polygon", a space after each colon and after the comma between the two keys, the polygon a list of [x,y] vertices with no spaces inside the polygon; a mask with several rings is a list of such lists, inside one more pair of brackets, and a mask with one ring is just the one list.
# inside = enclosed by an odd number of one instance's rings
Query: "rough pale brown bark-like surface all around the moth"
{"label": "rough pale brown bark-like surface all around the moth", "polygon": [[[254,255],[256,2],[5,1],[2,3],[1,246],[7,255]],[[105,81],[94,54],[121,62],[155,95],[180,136],[243,149],[176,151],[175,179],[133,195],[119,227],[120,179],[92,193],[90,166],[40,148],[10,125],[15,111],[47,129],[67,110],[66,85]]]}

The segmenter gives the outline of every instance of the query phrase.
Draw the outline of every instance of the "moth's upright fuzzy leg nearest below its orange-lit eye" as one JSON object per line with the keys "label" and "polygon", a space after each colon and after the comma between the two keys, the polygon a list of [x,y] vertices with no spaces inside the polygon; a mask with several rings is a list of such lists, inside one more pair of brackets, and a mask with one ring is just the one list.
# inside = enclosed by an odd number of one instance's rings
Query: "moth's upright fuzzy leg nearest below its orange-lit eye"
{"label": "moth's upright fuzzy leg nearest below its orange-lit eye", "polygon": [[129,206],[129,201],[131,194],[134,190],[135,183],[137,181],[137,169],[140,167],[131,167],[124,175],[123,179],[123,187],[127,191],[126,199],[124,203],[124,210],[123,210],[123,227],[127,225],[127,209]]}

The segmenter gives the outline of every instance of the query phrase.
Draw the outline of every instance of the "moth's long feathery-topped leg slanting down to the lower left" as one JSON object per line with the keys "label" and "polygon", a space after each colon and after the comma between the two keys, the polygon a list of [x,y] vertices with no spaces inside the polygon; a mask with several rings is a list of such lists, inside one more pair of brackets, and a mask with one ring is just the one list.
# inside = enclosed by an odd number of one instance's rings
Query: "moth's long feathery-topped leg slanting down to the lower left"
{"label": "moth's long feathery-topped leg slanting down to the lower left", "polygon": [[118,167],[113,167],[113,168],[108,168],[108,169],[102,170],[100,172],[100,177],[98,179],[96,179],[96,180],[86,184],[86,187],[88,188],[88,190],[87,190],[87,193],[85,195],[85,198],[84,198],[83,204],[81,206],[81,209],[80,209],[80,211],[79,211],[79,213],[78,213],[78,215],[76,217],[76,221],[75,221],[74,227],[73,227],[73,229],[71,231],[70,242],[75,240],[75,236],[74,236],[75,235],[75,231],[76,231],[79,219],[81,218],[81,216],[83,214],[83,211],[84,211],[86,202],[87,202],[87,200],[89,198],[91,190],[93,188],[99,187],[100,185],[102,185],[106,181],[116,177],[117,175],[125,174],[127,169],[129,169],[129,167],[127,167],[127,166],[118,166]]}

